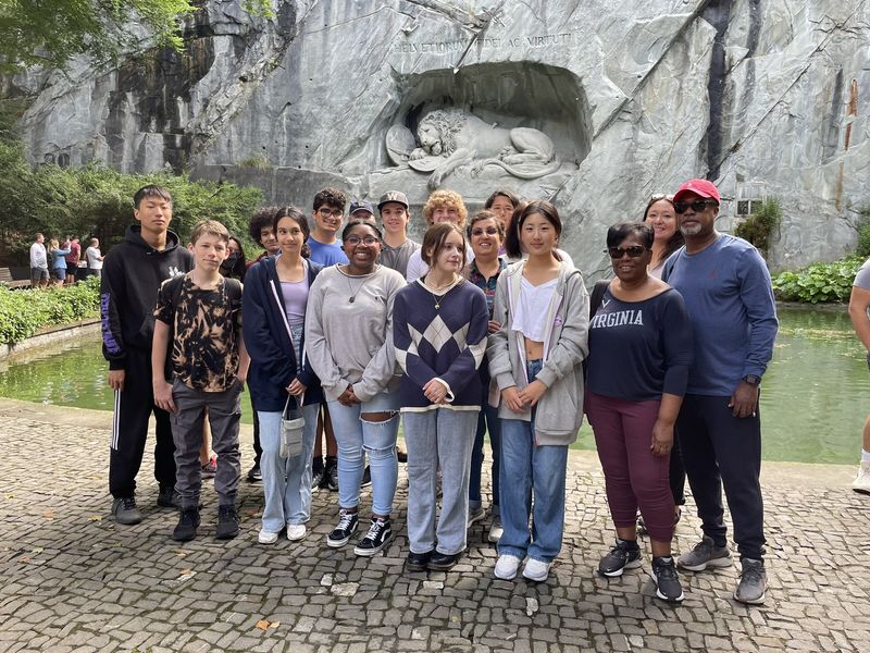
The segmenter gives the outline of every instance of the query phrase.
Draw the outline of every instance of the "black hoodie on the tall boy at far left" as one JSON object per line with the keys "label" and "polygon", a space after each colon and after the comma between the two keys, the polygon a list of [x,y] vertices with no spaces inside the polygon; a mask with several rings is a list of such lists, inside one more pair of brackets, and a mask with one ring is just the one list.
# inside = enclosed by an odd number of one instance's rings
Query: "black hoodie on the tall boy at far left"
{"label": "black hoodie on the tall boy at far left", "polygon": [[141,226],[127,227],[124,241],[109,250],[100,283],[102,355],[110,370],[126,369],[130,349],[151,350],[154,306],[160,284],[194,268],[194,256],[166,233],[166,247],[154,249],[142,239]]}

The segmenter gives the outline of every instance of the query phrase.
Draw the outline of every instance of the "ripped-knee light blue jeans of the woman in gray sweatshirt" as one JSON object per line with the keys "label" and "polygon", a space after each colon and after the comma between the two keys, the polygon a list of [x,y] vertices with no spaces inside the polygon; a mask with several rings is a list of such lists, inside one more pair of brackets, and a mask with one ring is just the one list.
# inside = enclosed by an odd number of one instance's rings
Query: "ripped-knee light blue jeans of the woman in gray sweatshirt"
{"label": "ripped-knee light blue jeans of the woman in gray sweatshirt", "polygon": [[[368,453],[372,471],[372,512],[388,517],[399,478],[396,458],[399,393],[380,394],[355,406],[344,406],[340,402],[328,402],[328,406],[338,443],[338,505],[343,508],[360,505],[360,485]],[[383,422],[371,422],[360,417],[363,412],[390,411],[396,411],[396,415]]]}

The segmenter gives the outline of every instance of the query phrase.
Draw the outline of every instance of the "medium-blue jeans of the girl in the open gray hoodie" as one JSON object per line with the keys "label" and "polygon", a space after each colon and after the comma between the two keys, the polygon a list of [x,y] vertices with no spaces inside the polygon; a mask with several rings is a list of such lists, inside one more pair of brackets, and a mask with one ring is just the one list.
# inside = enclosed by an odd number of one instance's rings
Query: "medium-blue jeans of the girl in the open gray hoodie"
{"label": "medium-blue jeans of the girl in the open gray hoodie", "polygon": [[[530,381],[540,371],[540,361],[530,361]],[[500,509],[505,532],[498,553],[526,556],[549,563],[562,549],[564,531],[564,477],[568,445],[535,444],[535,411],[532,420],[501,420]],[[534,505],[532,495],[534,491]],[[529,531],[529,517],[532,531]]]}

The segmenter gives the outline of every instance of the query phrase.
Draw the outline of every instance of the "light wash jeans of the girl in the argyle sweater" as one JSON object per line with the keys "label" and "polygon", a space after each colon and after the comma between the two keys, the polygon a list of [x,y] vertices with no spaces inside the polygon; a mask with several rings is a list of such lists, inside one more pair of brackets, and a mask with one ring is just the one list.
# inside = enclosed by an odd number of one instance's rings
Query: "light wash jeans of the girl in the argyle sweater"
{"label": "light wash jeans of the girl in the argyle sweater", "polygon": [[[471,447],[478,412],[449,408],[402,412],[408,446],[408,542],[413,553],[436,549],[453,555],[465,549]],[[436,528],[438,469],[442,513]]]}

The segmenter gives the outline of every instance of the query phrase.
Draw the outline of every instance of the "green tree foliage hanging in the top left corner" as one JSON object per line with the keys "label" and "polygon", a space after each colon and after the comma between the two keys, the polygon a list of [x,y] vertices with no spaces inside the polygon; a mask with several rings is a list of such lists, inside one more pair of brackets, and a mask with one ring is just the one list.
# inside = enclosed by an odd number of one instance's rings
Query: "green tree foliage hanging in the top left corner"
{"label": "green tree foliage hanging in the top left corner", "polygon": [[0,0],[0,72],[60,69],[77,54],[112,59],[137,42],[132,21],[156,45],[181,49],[181,21],[195,10],[190,0]]}

